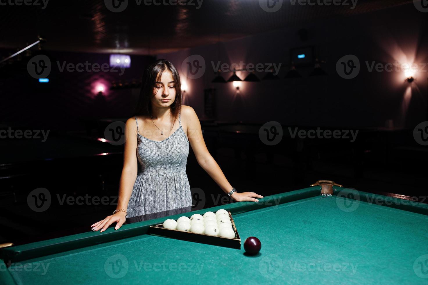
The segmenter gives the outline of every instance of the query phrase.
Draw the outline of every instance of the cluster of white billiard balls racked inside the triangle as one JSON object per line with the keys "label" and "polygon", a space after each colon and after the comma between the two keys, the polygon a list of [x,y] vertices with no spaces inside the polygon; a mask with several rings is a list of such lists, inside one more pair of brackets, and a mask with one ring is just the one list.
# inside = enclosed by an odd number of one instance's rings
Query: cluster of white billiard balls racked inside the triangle
{"label": "cluster of white billiard balls racked inside the triangle", "polygon": [[206,212],[203,216],[194,214],[189,218],[182,216],[177,221],[167,219],[163,228],[178,231],[190,231],[196,234],[209,234],[220,237],[235,237],[229,213],[220,209],[217,212]]}

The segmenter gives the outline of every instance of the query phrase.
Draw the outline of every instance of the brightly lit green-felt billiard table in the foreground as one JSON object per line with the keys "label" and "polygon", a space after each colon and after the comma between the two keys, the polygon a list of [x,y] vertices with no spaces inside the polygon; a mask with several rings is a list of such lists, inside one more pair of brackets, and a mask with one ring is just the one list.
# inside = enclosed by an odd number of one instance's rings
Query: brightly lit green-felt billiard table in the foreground
{"label": "brightly lit green-felt billiard table in the foreground", "polygon": [[[192,212],[229,210],[241,249],[148,234],[164,217],[6,247],[0,283],[428,284],[427,204],[339,186],[320,194],[312,186]],[[244,253],[250,236],[262,243],[254,256]]]}

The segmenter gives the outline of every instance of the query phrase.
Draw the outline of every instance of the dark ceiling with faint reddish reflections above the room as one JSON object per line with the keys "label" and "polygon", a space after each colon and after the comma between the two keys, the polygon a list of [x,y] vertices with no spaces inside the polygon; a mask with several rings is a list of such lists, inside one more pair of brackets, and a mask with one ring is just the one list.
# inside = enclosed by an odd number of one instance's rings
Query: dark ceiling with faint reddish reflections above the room
{"label": "dark ceiling with faint reddish reflections above the room", "polygon": [[[44,5],[42,0],[32,1]],[[40,34],[48,40],[45,48],[49,50],[154,55],[412,3],[358,0],[351,9],[344,5],[302,6],[294,0],[279,0],[279,11],[266,12],[262,9],[263,1],[273,3],[272,0],[203,0],[201,5],[196,0],[180,0],[188,4],[176,6],[148,6],[144,5],[148,0],[121,0],[125,1],[122,5],[128,2],[126,9],[111,12],[107,6],[112,1],[50,0],[44,9],[36,5],[0,6],[0,48],[23,48]],[[351,0],[340,1],[353,5]]]}

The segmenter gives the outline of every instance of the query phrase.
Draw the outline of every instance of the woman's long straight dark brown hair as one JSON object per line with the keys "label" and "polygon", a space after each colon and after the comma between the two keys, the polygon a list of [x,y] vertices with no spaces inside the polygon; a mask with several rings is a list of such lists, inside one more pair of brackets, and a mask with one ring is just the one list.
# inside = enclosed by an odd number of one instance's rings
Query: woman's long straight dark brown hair
{"label": "woman's long straight dark brown hair", "polygon": [[169,60],[159,59],[152,63],[144,72],[143,80],[141,81],[140,98],[138,99],[137,106],[135,108],[135,114],[137,116],[151,116],[152,115],[152,103],[151,99],[155,96],[155,82],[162,76],[164,71],[172,73],[175,86],[175,100],[171,104],[172,119],[175,120],[178,117],[178,112],[181,110],[181,82],[180,75],[175,66],[169,62]]}

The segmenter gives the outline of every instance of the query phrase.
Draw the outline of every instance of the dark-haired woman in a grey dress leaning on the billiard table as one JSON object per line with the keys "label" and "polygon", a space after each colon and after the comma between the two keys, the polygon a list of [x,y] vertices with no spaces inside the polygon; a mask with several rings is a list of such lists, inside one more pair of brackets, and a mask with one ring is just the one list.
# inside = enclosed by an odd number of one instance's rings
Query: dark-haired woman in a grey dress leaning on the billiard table
{"label": "dark-haired woman in a grey dress leaning on the billiard table", "polygon": [[177,69],[168,60],[157,60],[146,70],[137,105],[137,116],[127,120],[119,199],[111,216],[91,226],[105,231],[125,216],[192,206],[186,174],[189,145],[199,165],[234,201],[263,198],[254,192],[235,192],[205,146],[201,125],[190,106],[181,105]]}

